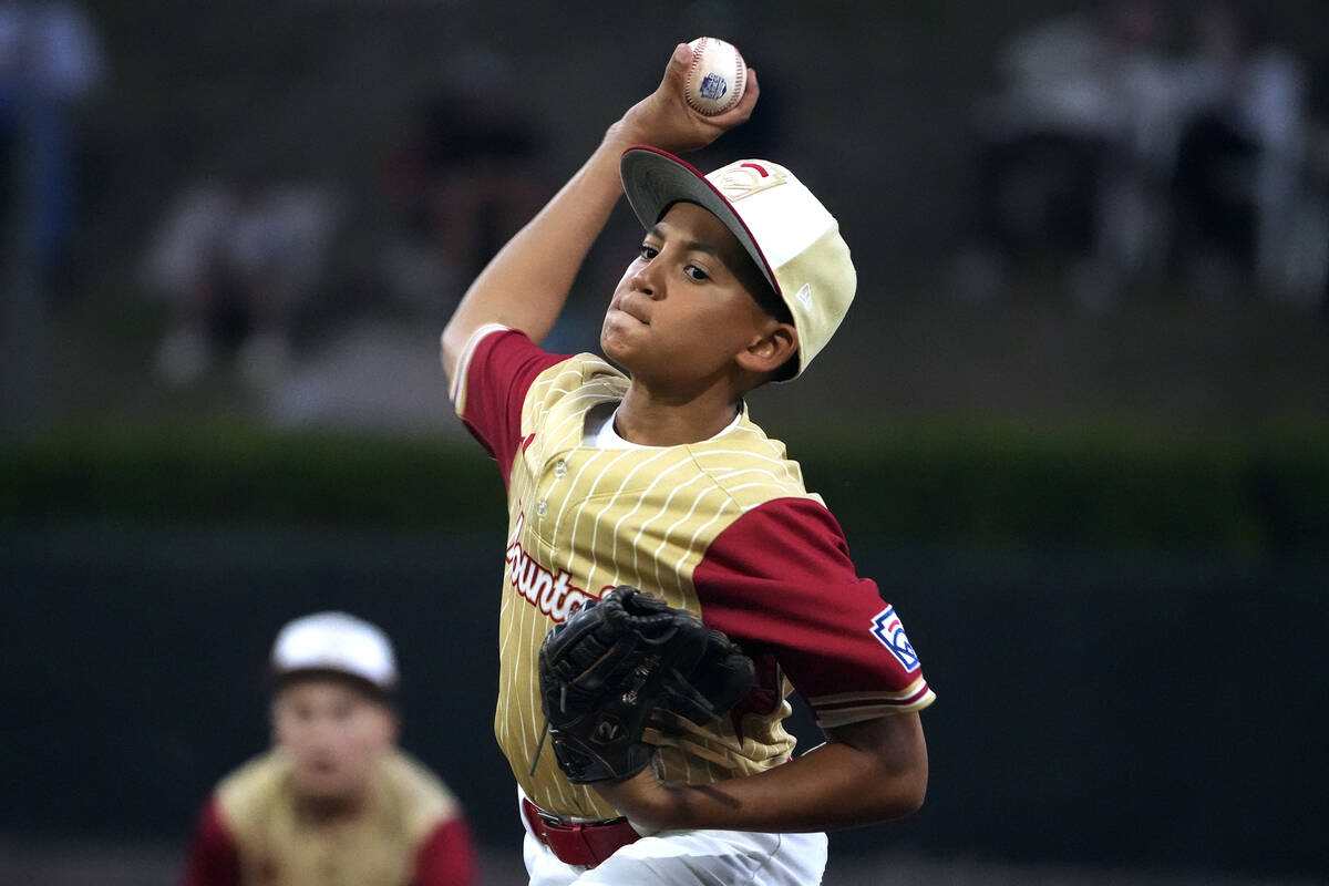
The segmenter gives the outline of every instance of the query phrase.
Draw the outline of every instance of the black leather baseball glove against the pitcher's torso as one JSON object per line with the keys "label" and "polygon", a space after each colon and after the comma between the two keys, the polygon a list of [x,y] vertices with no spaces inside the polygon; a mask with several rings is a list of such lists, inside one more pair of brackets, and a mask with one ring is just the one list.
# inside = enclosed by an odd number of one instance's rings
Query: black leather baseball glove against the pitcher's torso
{"label": "black leather baseball glove against the pitcher's torso", "polygon": [[667,715],[706,725],[752,680],[752,660],[724,634],[626,584],[589,600],[540,648],[554,756],[577,784],[637,774],[655,754],[647,725],[668,731]]}

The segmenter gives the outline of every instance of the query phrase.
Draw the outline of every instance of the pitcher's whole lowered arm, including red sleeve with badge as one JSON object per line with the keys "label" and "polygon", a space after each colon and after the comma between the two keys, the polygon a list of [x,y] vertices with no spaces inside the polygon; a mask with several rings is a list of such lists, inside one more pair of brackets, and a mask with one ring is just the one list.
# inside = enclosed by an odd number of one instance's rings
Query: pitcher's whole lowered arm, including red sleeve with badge
{"label": "pitcher's whole lowered arm, including red sleeve with badge", "polygon": [[825,506],[784,498],[748,510],[692,573],[702,618],[763,650],[808,701],[828,741],[758,774],[662,784],[647,769],[595,785],[657,829],[808,832],[900,818],[922,804],[928,745],[918,711],[934,697],[894,607],[859,578]]}

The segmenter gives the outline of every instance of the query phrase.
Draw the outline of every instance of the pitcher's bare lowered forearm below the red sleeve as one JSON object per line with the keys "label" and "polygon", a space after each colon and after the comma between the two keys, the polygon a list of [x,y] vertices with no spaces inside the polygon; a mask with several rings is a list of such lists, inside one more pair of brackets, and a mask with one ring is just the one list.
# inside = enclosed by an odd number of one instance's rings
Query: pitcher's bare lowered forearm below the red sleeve
{"label": "pitcher's bare lowered forearm below the red sleeve", "polygon": [[928,745],[917,712],[825,732],[825,744],[754,776],[680,785],[661,781],[649,766],[595,788],[651,830],[816,832],[902,818],[922,805]]}

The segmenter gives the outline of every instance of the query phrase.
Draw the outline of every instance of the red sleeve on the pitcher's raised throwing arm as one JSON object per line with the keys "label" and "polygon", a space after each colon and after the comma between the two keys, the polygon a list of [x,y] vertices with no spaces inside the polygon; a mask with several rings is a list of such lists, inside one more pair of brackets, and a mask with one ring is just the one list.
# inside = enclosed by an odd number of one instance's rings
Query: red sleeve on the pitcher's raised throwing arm
{"label": "red sleeve on the pitcher's raised throwing arm", "polygon": [[566,360],[541,351],[524,332],[486,327],[457,364],[452,402],[466,430],[498,461],[504,484],[521,446],[521,405],[541,372]]}

